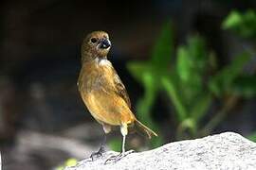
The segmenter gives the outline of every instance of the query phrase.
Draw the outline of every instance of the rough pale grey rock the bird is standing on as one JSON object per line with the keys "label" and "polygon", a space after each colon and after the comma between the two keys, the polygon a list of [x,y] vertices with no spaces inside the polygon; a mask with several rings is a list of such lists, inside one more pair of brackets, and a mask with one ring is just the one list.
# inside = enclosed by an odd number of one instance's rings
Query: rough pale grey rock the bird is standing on
{"label": "rough pale grey rock the bird is standing on", "polygon": [[256,144],[233,132],[165,144],[104,164],[113,154],[117,152],[80,161],[66,170],[256,169]]}

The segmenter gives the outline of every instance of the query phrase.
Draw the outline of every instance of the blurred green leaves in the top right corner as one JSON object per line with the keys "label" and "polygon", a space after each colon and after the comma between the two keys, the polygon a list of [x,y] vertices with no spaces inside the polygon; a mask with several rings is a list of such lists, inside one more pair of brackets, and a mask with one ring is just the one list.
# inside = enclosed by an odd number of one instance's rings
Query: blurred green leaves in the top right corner
{"label": "blurred green leaves in the top right corner", "polygon": [[248,9],[242,13],[237,10],[230,12],[229,16],[225,19],[222,27],[230,29],[236,34],[248,38],[256,39],[256,12]]}

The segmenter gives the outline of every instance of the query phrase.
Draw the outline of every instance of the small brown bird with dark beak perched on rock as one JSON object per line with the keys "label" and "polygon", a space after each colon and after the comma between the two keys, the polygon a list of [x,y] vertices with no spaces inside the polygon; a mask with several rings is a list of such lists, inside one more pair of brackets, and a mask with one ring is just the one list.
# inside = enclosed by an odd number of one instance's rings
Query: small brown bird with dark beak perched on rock
{"label": "small brown bird with dark beak perched on rock", "polygon": [[[78,88],[87,109],[102,125],[105,133],[109,133],[112,126],[120,127],[123,155],[128,126],[138,127],[149,138],[157,135],[140,123],[132,112],[126,89],[107,59],[110,47],[111,42],[106,32],[94,31],[86,36],[82,42],[82,69]],[[101,151],[100,148],[98,154]]]}

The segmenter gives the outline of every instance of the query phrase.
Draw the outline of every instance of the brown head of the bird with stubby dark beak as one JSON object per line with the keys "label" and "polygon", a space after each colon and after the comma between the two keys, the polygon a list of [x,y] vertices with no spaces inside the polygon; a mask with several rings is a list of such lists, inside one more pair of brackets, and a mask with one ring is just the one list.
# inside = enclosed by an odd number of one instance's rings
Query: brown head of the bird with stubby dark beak
{"label": "brown head of the bird with stubby dark beak", "polygon": [[104,31],[94,31],[82,42],[82,61],[95,58],[106,58],[111,47],[108,34]]}

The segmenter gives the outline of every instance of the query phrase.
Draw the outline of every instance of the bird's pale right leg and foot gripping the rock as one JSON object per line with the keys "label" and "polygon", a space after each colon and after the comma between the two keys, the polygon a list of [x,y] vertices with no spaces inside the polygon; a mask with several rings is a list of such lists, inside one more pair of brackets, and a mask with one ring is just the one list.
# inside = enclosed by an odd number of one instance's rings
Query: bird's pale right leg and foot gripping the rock
{"label": "bird's pale right leg and foot gripping the rock", "polygon": [[126,157],[127,155],[131,154],[134,152],[134,150],[131,150],[131,151],[128,151],[128,152],[125,152],[125,139],[126,139],[126,135],[128,134],[128,128],[127,128],[127,124],[123,124],[121,127],[120,127],[120,131],[121,131],[121,134],[122,134],[122,144],[121,144],[121,152],[119,153],[119,155],[114,155],[114,156],[111,156],[110,158],[108,158],[106,161],[105,161],[105,164],[107,164],[108,162],[110,161],[119,161],[120,159],[122,159],[123,157]]}

